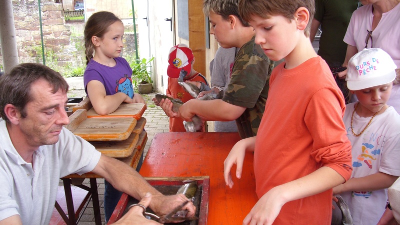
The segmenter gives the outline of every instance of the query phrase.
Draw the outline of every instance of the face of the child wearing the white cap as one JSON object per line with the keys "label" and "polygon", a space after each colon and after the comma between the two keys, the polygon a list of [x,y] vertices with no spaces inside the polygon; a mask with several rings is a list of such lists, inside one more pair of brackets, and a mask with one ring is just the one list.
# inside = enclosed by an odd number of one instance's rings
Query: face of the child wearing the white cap
{"label": "face of the child wearing the white cap", "polygon": [[366,112],[370,112],[373,115],[386,105],[386,102],[390,97],[391,87],[392,83],[387,83],[352,91],[352,93],[357,96],[362,110],[366,110]]}

